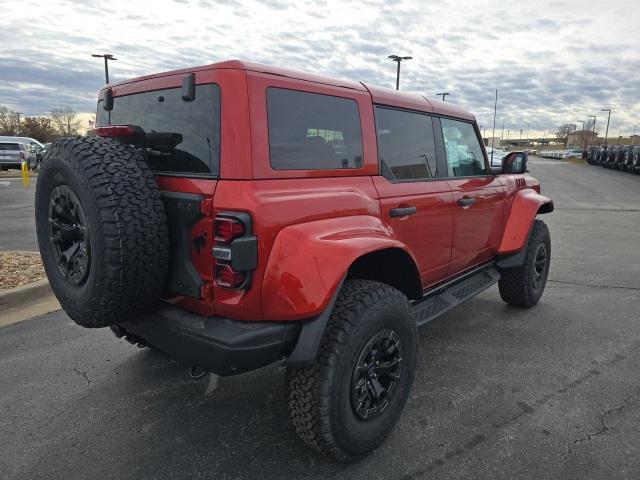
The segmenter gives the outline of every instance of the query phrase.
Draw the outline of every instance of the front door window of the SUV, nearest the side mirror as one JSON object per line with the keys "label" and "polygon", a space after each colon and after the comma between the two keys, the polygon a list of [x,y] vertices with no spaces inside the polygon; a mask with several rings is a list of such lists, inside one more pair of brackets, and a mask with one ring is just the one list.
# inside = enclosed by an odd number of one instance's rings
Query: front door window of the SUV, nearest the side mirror
{"label": "front door window of the SUV, nearest the side mirror", "polygon": [[485,174],[484,155],[471,123],[442,118],[442,135],[449,177]]}

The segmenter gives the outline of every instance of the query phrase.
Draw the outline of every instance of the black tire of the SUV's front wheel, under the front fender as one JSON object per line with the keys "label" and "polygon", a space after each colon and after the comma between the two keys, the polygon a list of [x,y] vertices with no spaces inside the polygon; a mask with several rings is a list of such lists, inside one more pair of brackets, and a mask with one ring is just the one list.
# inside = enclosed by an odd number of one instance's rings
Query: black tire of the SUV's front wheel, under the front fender
{"label": "black tire of the SUV's front wheel, under the front fender", "polygon": [[[546,259],[544,271],[540,279],[539,286],[535,287],[534,275],[536,265],[536,255],[539,246],[543,244],[546,249]],[[549,265],[551,262],[551,236],[549,229],[542,220],[534,220],[533,229],[526,246],[526,255],[521,267],[502,270],[502,277],[498,282],[500,296],[509,305],[522,308],[533,307],[544,292],[549,275]]]}

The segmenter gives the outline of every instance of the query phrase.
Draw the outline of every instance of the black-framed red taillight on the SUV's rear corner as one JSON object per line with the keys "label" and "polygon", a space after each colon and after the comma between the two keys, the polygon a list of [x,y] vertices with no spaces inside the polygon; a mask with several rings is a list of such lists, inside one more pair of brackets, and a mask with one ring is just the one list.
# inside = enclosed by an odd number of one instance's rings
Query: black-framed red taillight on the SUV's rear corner
{"label": "black-framed red taillight on the SUV's rear corner", "polygon": [[245,212],[221,212],[213,222],[215,280],[218,286],[247,289],[258,265],[258,239],[252,235],[251,216]]}

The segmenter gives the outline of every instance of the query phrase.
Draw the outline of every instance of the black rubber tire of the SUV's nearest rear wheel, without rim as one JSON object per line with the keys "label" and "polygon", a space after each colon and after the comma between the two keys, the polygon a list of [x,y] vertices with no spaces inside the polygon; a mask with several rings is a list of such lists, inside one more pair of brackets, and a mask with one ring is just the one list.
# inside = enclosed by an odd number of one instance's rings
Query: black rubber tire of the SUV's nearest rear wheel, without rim
{"label": "black rubber tire of the SUV's nearest rear wheel, without rim", "polygon": [[[392,329],[402,346],[402,369],[387,407],[362,420],[352,406],[352,376],[363,349]],[[338,460],[373,451],[398,421],[416,365],[416,323],[407,298],[369,280],[347,281],[340,291],[318,356],[308,367],[286,373],[289,417],[298,436]]]}

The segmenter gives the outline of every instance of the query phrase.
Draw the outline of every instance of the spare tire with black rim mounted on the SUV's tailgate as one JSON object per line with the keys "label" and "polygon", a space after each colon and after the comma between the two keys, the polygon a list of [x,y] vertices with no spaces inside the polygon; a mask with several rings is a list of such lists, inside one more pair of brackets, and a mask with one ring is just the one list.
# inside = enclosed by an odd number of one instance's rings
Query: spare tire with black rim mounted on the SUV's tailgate
{"label": "spare tire with black rim mounted on the SUV's tailgate", "polygon": [[169,231],[139,150],[101,137],[55,142],[38,174],[35,211],[51,289],[77,324],[115,325],[157,304]]}

